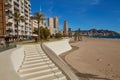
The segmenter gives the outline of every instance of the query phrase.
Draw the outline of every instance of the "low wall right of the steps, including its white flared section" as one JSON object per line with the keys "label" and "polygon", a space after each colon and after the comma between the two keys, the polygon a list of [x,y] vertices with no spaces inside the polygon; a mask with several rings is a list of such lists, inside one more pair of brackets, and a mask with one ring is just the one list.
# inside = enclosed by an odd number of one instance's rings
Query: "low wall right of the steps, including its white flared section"
{"label": "low wall right of the steps, including its white flared section", "polygon": [[69,45],[69,40],[44,43],[42,44],[42,49],[66,75],[67,80],[79,80],[78,77],[72,72],[71,68],[58,56],[61,53],[72,49]]}

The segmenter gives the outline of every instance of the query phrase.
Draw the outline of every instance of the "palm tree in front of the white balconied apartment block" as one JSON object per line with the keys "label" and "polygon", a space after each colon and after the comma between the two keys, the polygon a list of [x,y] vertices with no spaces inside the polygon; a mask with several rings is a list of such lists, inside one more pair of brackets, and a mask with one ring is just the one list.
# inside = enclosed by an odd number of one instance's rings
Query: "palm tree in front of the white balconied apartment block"
{"label": "palm tree in front of the white balconied apartment block", "polygon": [[20,21],[25,22],[24,16],[21,16],[18,12],[15,12],[12,15],[12,18],[16,21],[16,26],[17,26],[17,42],[19,42],[19,32],[18,32],[18,26]]}

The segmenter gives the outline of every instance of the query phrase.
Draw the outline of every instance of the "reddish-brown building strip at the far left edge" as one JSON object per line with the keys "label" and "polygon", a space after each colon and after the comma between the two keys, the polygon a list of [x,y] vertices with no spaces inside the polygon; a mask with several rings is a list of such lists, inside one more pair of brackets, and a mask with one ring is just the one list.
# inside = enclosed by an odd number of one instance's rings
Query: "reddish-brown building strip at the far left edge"
{"label": "reddish-brown building strip at the far left edge", "polygon": [[0,0],[0,35],[5,35],[6,17],[5,17],[5,0]]}

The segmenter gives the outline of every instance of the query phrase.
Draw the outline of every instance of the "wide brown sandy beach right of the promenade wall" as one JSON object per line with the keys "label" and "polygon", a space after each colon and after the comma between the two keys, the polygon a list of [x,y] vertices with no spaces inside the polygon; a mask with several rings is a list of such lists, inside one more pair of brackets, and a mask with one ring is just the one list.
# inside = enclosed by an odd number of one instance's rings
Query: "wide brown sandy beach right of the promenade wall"
{"label": "wide brown sandy beach right of the promenade wall", "polygon": [[80,80],[120,80],[120,40],[83,38],[60,55]]}

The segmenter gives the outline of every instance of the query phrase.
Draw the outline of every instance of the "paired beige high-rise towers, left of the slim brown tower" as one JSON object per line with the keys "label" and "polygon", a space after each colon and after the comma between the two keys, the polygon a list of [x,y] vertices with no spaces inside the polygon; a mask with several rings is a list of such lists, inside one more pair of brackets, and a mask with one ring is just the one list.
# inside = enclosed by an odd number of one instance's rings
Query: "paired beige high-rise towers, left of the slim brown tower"
{"label": "paired beige high-rise towers, left of the slim brown tower", "polygon": [[48,18],[48,27],[51,34],[58,33],[58,17]]}

